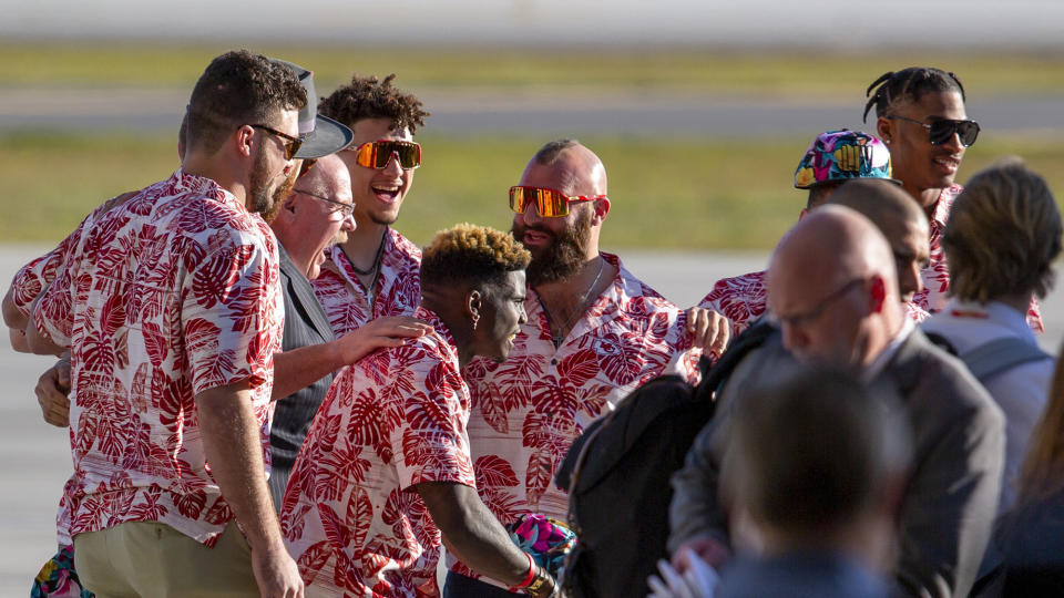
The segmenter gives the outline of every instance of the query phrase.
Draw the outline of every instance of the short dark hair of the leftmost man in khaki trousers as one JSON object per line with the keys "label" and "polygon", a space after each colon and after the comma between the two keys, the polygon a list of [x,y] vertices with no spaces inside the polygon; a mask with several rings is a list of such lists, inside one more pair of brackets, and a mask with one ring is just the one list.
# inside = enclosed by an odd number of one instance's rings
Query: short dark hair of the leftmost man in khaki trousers
{"label": "short dark hair of the leftmost man in khaki trousers", "polygon": [[247,50],[226,52],[211,61],[192,90],[185,142],[213,152],[234,127],[268,124],[276,112],[306,104],[307,92],[291,70]]}

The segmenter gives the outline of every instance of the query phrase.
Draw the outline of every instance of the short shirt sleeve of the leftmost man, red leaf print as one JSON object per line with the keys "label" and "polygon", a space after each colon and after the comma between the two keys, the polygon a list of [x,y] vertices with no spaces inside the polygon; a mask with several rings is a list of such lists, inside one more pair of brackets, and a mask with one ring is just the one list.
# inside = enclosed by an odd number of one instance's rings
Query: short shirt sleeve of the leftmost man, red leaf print
{"label": "short shirt sleeve of the leftmost man, red leaf print", "polygon": [[212,234],[205,256],[182,283],[181,321],[195,394],[248,379],[253,386],[273,381],[284,317],[278,277],[277,260],[256,239],[233,230]]}

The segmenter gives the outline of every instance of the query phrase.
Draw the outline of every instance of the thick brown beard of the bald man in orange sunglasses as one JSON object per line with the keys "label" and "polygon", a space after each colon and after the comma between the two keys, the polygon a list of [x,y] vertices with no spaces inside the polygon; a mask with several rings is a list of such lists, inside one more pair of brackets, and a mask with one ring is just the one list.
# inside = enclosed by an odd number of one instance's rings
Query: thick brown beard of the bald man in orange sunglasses
{"label": "thick brown beard of the bald man in orange sunglasses", "polygon": [[572,224],[559,233],[539,226],[514,224],[511,233],[514,238],[524,238],[525,230],[534,230],[551,237],[545,247],[526,247],[532,261],[525,270],[529,286],[538,287],[544,282],[565,280],[574,276],[586,261],[587,246],[591,240],[591,210],[580,210]]}

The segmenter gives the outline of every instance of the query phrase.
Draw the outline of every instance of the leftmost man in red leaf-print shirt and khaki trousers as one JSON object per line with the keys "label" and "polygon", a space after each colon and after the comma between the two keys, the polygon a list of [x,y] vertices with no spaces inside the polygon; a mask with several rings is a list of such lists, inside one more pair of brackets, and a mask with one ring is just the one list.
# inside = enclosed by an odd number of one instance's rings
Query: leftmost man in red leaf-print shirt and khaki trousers
{"label": "leftmost man in red leaf-print shirt and khaki trousers", "polygon": [[193,90],[182,169],[72,239],[32,311],[30,347],[71,351],[60,517],[89,590],[303,592],[266,487],[284,313],[257,214],[294,175],[305,103],[265,56],[215,59]]}

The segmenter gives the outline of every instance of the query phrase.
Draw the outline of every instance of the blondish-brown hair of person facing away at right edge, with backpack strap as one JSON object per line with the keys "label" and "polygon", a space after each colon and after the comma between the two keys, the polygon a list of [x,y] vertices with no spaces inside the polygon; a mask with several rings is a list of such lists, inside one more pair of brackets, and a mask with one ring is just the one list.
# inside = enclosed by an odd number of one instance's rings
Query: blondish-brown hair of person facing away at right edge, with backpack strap
{"label": "blondish-brown hair of person facing away at right edge, with backpack strap", "polygon": [[951,292],[981,303],[1015,292],[1045,297],[1061,234],[1053,193],[1023,161],[980,171],[953,203],[942,236]]}

